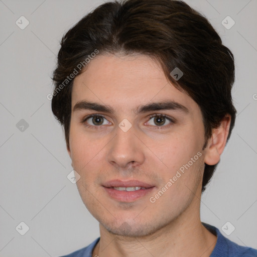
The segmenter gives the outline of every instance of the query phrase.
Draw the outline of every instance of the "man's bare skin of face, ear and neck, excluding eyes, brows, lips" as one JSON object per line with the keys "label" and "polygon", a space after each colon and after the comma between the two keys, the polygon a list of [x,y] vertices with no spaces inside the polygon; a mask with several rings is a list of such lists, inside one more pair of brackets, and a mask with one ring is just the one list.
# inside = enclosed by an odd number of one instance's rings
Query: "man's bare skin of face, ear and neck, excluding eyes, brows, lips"
{"label": "man's bare skin of face, ear and neck, excluding eyes, brows, lips", "polygon": [[[135,114],[139,105],[174,100],[188,108]],[[109,105],[114,113],[79,109],[81,101]],[[90,114],[104,116],[97,125]],[[166,114],[160,126],[153,114]],[[132,124],[123,132],[118,124]],[[100,120],[101,121],[101,120]],[[216,236],[200,221],[204,163],[218,163],[225,147],[230,117],[213,130],[203,149],[204,125],[197,103],[167,80],[160,65],[148,56],[98,55],[74,79],[68,153],[80,175],[77,187],[89,212],[99,221],[100,241],[93,255],[209,256]],[[89,127],[88,125],[98,127]],[[154,196],[198,152],[202,155],[156,200]],[[102,183],[120,179],[144,181],[155,188],[133,202],[108,196]]]}

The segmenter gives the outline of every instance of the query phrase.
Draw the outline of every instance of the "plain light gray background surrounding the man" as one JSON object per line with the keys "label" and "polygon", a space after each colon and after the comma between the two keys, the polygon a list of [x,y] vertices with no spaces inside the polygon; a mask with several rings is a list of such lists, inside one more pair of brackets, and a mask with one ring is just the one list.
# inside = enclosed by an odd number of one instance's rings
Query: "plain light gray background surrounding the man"
{"label": "plain light gray background surrounding the man", "polygon": [[[209,19],[236,65],[236,124],[202,196],[201,219],[220,230],[229,221],[235,230],[221,230],[225,236],[257,248],[257,1],[186,2]],[[98,222],[67,179],[71,160],[47,94],[62,35],[100,3],[0,0],[0,256],[59,256],[99,236]],[[16,25],[21,16],[30,23],[24,30]],[[229,30],[221,24],[227,16],[235,21]],[[25,235],[16,230],[22,221]]]}

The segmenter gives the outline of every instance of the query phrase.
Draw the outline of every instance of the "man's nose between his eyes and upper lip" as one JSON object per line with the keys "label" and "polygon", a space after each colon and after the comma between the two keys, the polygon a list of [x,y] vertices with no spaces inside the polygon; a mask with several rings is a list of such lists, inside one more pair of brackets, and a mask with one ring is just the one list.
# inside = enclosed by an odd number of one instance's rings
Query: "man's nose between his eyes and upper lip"
{"label": "man's nose between his eyes and upper lip", "polygon": [[135,135],[136,130],[132,126],[127,132],[119,127],[116,136],[109,144],[107,160],[115,168],[131,168],[144,163],[144,144],[140,141],[140,135]]}

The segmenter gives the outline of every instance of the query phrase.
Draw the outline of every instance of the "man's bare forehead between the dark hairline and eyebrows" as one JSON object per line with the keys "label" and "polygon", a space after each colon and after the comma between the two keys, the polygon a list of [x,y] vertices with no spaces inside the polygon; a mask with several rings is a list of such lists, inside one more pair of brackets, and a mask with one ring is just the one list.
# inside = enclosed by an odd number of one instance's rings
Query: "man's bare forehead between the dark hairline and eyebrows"
{"label": "man's bare forehead between the dark hairline and eyebrows", "polygon": [[146,55],[98,55],[74,79],[72,106],[88,100],[135,110],[149,102],[172,100],[188,109],[198,105],[166,78],[160,64]]}

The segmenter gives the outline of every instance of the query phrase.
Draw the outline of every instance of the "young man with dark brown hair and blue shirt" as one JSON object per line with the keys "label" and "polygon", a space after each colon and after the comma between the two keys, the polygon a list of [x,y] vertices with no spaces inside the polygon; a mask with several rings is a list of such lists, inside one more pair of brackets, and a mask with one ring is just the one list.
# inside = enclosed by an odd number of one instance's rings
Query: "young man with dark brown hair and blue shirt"
{"label": "young man with dark brown hair and blue shirt", "polygon": [[235,121],[233,55],[181,1],[109,2],[61,42],[54,115],[100,237],[67,256],[257,256],[201,223]]}

